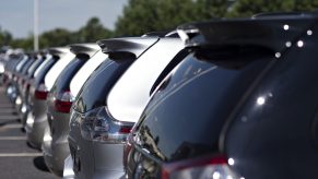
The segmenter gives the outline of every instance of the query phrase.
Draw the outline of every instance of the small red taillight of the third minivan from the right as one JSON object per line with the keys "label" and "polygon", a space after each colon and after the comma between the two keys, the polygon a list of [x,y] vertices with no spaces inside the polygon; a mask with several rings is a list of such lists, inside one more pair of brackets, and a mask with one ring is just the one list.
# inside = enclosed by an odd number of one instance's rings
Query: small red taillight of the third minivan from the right
{"label": "small red taillight of the third minivan from the right", "polygon": [[69,114],[73,103],[73,95],[70,91],[64,91],[61,94],[55,95],[55,109],[59,112]]}

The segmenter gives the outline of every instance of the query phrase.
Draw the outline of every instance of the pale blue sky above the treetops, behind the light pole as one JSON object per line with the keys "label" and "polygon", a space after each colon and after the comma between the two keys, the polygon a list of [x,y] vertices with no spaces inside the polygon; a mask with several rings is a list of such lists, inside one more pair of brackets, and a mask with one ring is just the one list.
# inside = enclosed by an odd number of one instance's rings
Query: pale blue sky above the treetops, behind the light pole
{"label": "pale blue sky above the treetops, behind the light pole", "polygon": [[[0,27],[14,38],[33,33],[34,0],[0,0]],[[128,0],[38,0],[39,33],[63,27],[76,31],[89,19],[97,16],[103,25],[114,29]]]}

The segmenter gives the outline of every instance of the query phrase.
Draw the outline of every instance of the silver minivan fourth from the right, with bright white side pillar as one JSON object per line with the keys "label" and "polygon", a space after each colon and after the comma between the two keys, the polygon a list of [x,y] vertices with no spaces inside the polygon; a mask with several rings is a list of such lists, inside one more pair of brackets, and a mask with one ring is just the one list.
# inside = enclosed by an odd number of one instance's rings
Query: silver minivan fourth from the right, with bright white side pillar
{"label": "silver minivan fourth from the right, with bright white side pillar", "polygon": [[50,48],[49,52],[52,57],[45,60],[35,71],[35,80],[30,87],[28,103],[31,111],[27,114],[25,126],[27,142],[39,150],[42,147],[44,132],[48,128],[46,119],[47,94],[60,71],[74,58],[69,47]]}

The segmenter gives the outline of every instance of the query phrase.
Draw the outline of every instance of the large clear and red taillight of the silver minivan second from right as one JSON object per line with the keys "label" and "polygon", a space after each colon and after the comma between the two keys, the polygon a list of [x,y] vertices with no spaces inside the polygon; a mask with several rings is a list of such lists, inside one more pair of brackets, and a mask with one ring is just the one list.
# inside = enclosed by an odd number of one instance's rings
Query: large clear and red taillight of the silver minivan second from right
{"label": "large clear and red taillight of the silver minivan second from right", "polygon": [[102,143],[125,143],[132,127],[133,122],[113,120],[104,106],[91,110],[81,119],[82,136]]}

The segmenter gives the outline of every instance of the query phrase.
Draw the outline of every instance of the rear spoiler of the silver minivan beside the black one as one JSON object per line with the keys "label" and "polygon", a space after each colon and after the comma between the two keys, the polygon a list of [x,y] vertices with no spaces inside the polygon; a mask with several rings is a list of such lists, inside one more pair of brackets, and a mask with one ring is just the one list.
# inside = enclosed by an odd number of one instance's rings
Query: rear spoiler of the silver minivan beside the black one
{"label": "rear spoiler of the silver minivan beside the black one", "polygon": [[127,37],[98,40],[104,53],[113,60],[137,59],[148,48],[158,40],[158,37]]}

